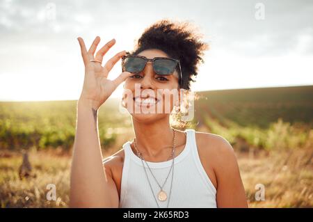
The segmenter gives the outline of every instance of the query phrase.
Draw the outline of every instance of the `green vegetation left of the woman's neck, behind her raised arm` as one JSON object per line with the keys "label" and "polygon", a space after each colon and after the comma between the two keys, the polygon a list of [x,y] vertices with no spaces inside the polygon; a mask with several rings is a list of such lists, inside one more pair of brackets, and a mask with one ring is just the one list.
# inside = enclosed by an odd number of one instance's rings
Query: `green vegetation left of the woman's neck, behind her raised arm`
{"label": "green vegetation left of the woman's neck, behind her raised arm", "polygon": [[[74,143],[76,107],[77,101],[1,102],[0,149],[68,150]],[[118,102],[111,100],[99,110],[99,135],[104,146],[115,143],[113,129],[131,127],[129,116],[117,109]]]}

